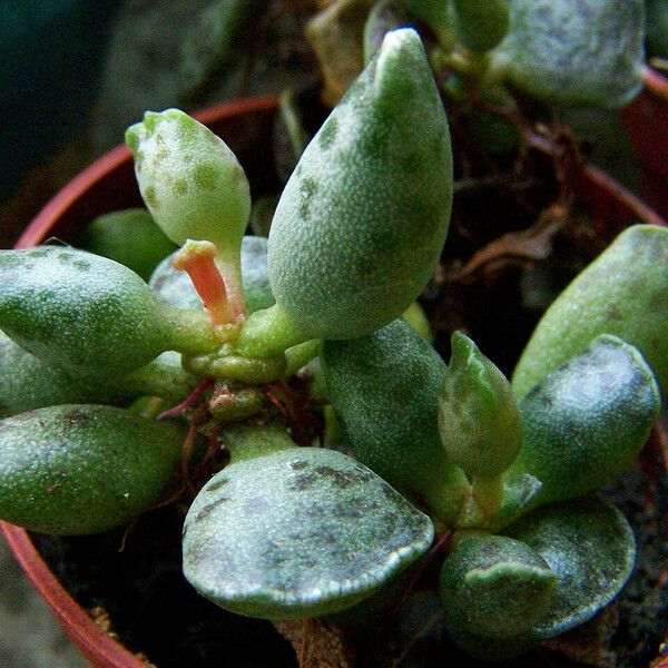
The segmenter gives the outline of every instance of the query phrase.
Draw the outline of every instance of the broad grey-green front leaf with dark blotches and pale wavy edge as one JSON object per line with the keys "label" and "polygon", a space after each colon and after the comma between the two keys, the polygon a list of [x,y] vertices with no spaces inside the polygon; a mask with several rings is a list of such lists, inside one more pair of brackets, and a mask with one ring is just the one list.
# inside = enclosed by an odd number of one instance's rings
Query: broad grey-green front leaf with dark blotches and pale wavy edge
{"label": "broad grey-green front leaf with dark blotches and pale wavy edge", "polygon": [[206,598],[268,619],[318,617],[371,596],[430,547],[431,520],[333,450],[229,464],[193,503],[184,572]]}

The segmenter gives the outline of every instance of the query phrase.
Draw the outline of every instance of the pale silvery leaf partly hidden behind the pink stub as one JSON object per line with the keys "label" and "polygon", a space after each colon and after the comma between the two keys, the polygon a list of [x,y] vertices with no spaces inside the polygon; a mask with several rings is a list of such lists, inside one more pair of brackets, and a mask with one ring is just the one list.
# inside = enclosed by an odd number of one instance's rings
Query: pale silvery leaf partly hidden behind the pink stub
{"label": "pale silvery leaf partly hidden behind the pink stub", "polygon": [[[242,278],[249,313],[268,308],[274,296],[267,276],[267,239],[245,236],[242,240]],[[148,283],[158,298],[176,308],[204,308],[199,295],[186,272],[174,268],[174,255],[166,257]]]}

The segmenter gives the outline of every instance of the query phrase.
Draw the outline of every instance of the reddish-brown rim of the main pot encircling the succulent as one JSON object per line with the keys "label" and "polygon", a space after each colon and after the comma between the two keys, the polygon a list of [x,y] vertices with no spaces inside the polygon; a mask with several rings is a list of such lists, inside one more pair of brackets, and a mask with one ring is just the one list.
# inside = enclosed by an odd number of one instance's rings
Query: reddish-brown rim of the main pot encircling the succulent
{"label": "reddish-brown rim of the main pot encircling the succulent", "polygon": [[[668,94],[668,84],[666,89]],[[205,125],[209,125],[249,112],[273,111],[277,106],[278,98],[272,95],[223,102],[196,112],[194,116]],[[539,140],[536,143],[536,148],[556,155],[554,147],[548,141]],[[97,181],[130,159],[129,149],[118,146],[95,160],[59,190],[40,210],[26,227],[14,248],[27,248],[45,240],[56,223],[78,198]],[[580,180],[580,194],[586,195],[593,190],[599,198],[601,194],[606,194],[612,200],[610,203],[612,209],[621,212],[625,217],[640,218],[644,222],[662,226],[668,225],[659,214],[597,167],[584,165]],[[584,199],[587,200],[588,197],[584,196]],[[132,655],[119,640],[107,633],[73,600],[51,572],[24,529],[0,520],[0,531],[29,580],[87,658],[94,660],[99,668],[146,668],[144,661]]]}

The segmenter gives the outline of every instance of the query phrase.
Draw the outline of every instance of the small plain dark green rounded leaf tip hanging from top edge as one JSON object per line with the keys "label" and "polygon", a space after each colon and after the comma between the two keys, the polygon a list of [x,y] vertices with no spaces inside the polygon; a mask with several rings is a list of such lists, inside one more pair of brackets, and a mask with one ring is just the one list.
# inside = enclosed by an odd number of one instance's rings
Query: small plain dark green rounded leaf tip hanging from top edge
{"label": "small plain dark green rounded leaf tip hanging from top edge", "polygon": [[471,51],[493,49],[508,32],[507,0],[453,0],[452,8],[456,37]]}

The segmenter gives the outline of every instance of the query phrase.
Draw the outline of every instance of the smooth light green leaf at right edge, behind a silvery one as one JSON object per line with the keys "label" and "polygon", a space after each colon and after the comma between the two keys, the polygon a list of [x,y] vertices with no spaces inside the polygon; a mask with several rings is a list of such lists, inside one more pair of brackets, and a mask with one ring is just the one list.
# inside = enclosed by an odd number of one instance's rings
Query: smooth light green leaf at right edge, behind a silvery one
{"label": "smooth light green leaf at right edge, behind a silvery one", "polygon": [[668,229],[633,225],[561,293],[514,370],[518,396],[599,334],[635,345],[668,392]]}

